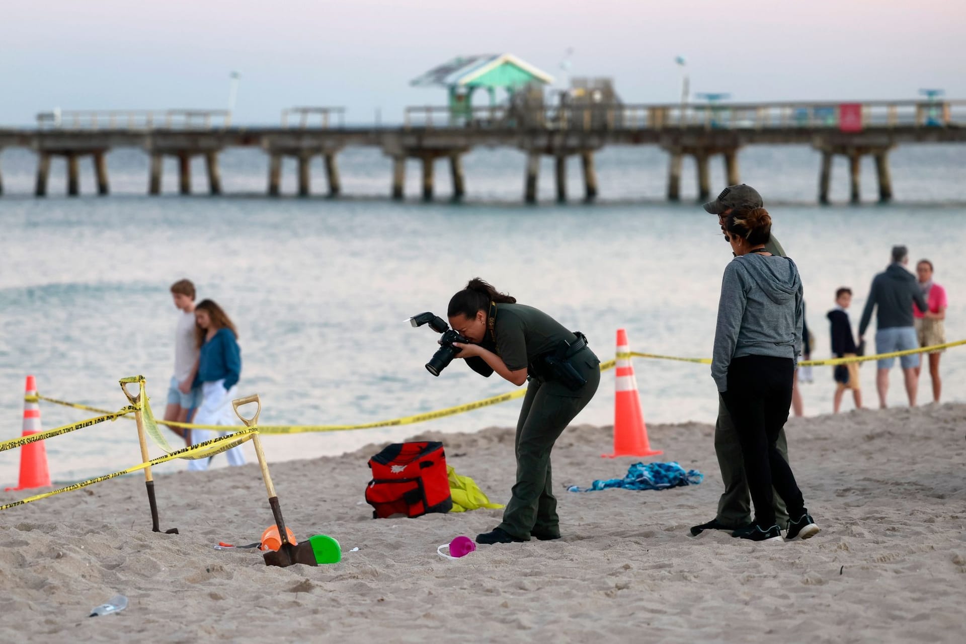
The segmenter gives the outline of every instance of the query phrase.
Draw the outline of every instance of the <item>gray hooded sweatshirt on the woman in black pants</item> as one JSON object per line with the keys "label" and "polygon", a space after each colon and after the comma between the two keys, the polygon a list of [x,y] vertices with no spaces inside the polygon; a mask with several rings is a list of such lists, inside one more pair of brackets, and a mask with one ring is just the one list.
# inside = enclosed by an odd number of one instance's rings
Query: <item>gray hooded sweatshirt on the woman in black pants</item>
{"label": "gray hooded sweatshirt on the woman in black pants", "polygon": [[771,355],[797,363],[802,350],[802,279],[786,257],[749,253],[731,260],[722,279],[711,377],[727,391],[733,358]]}

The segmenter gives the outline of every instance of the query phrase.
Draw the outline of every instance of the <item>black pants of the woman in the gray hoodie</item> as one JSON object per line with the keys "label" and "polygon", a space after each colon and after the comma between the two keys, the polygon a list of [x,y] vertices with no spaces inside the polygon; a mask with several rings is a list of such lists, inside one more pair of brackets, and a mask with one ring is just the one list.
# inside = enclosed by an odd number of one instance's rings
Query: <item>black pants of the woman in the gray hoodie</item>
{"label": "black pants of the woman in the gray hoodie", "polygon": [[788,420],[794,373],[791,358],[734,358],[727,370],[727,391],[722,395],[741,443],[754,521],[764,528],[775,525],[773,486],[788,507],[789,518],[798,519],[805,512],[795,475],[776,447]]}

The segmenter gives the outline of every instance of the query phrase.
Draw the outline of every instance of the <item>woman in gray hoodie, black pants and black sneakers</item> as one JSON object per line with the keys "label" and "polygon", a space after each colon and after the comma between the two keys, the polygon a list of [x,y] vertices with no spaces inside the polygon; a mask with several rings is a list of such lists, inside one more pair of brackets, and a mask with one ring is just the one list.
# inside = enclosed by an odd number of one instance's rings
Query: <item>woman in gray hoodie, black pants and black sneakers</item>
{"label": "woman in gray hoodie, black pants and black sneakers", "polygon": [[802,349],[802,280],[794,262],[765,250],[772,230],[768,210],[736,208],[724,228],[735,257],[722,279],[711,376],[734,421],[754,503],[753,523],[732,535],[781,541],[774,486],[788,508],[785,539],[808,539],[818,526],[776,447]]}

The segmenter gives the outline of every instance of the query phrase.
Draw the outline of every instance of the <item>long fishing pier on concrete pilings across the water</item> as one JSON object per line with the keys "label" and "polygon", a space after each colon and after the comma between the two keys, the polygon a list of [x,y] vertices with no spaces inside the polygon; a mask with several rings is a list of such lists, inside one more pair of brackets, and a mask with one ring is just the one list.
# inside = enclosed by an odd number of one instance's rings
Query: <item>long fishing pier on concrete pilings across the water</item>
{"label": "long fishing pier on concrete pilings across the water", "polygon": [[[554,157],[556,197],[568,198],[567,164],[582,164],[582,193],[598,196],[594,156],[609,146],[658,146],[668,153],[668,200],[681,195],[682,159],[696,161],[698,198],[712,194],[709,164],[721,158],[727,182],[741,182],[739,153],[753,145],[805,145],[821,153],[818,201],[828,203],[834,155],[849,159],[851,201],[860,200],[860,167],[871,156],[880,201],[893,197],[889,154],[901,144],[966,143],[966,101],[778,102],[758,104],[526,104],[411,107],[394,126],[347,126],[344,110],[299,107],[285,110],[279,126],[235,126],[226,110],[86,111],[41,114],[31,128],[0,127],[0,150],[27,148],[37,154],[34,194],[48,193],[50,159],[67,160],[68,195],[79,194],[80,161],[92,160],[99,195],[110,192],[106,154],[136,148],[150,157],[146,190],[160,194],[162,159],[178,158],[179,190],[190,194],[191,161],[202,158],[208,192],[222,194],[218,155],[228,148],[258,148],[267,156],[269,196],[280,195],[282,158],[298,159],[298,195],[312,193],[310,162],[325,161],[327,194],[341,193],[338,155],[369,147],[392,159],[387,194],[403,199],[406,161],[422,164],[421,197],[436,196],[436,161],[448,161],[455,200],[467,193],[462,158],[475,148],[510,148],[526,154],[523,198],[536,203],[541,156]],[[717,191],[717,188],[716,188]],[[3,192],[0,168],[0,194]]]}

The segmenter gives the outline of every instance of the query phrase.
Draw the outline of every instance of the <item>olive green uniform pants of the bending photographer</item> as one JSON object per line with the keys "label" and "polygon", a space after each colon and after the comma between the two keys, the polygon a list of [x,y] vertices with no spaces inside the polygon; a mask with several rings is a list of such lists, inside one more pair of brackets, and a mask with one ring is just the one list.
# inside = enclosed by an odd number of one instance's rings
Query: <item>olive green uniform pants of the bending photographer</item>
{"label": "olive green uniform pants of the bending photographer", "polygon": [[518,539],[528,540],[530,533],[560,534],[550,453],[557,437],[594,397],[601,380],[600,360],[593,351],[582,350],[571,363],[587,380],[579,390],[536,378],[530,378],[526,388],[515,441],[517,483],[498,526]]}

